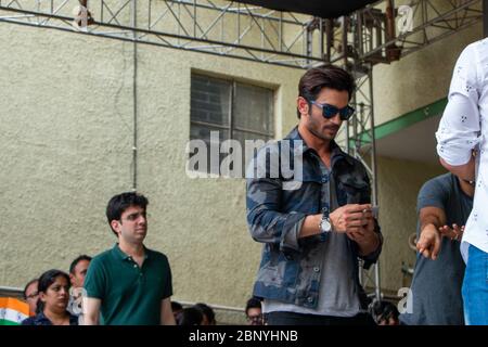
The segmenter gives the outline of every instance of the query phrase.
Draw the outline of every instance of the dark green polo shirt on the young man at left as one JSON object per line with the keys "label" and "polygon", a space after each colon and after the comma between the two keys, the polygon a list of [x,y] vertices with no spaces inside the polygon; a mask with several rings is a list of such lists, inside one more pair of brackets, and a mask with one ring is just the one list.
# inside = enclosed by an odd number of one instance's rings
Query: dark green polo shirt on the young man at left
{"label": "dark green polo shirt on the young man at left", "polygon": [[85,290],[102,300],[104,324],[160,324],[160,301],[172,295],[171,270],[164,254],[144,249],[141,268],[118,244],[91,260]]}

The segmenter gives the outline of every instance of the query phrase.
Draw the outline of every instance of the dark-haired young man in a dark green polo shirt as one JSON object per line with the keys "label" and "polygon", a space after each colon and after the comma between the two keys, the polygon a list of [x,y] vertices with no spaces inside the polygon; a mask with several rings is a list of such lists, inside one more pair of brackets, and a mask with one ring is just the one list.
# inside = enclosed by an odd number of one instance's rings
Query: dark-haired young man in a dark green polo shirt
{"label": "dark-haired young man in a dark green polo shirt", "polygon": [[106,217],[118,243],[94,257],[85,279],[85,324],[175,324],[168,258],[143,244],[149,202],[137,193],[115,195]]}

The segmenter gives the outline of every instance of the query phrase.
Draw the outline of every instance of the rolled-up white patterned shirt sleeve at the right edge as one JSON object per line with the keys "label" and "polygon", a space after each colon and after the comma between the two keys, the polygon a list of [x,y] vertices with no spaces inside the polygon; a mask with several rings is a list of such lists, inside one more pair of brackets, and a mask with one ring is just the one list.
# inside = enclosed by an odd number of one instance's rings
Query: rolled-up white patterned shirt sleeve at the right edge
{"label": "rolled-up white patterned shirt sleeve at the right edge", "polygon": [[478,99],[483,86],[477,66],[476,47],[471,44],[455,64],[448,104],[436,132],[437,154],[452,166],[466,164],[480,140]]}

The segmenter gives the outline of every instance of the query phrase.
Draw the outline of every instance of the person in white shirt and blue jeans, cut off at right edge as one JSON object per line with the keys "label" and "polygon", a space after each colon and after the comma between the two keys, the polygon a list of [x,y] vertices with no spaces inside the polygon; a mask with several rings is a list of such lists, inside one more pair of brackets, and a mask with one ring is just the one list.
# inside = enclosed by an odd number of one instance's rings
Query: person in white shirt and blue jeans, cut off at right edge
{"label": "person in white shirt and blue jeans, cut off at right edge", "polygon": [[436,132],[440,163],[476,185],[461,254],[464,320],[488,324],[488,39],[468,44],[454,67],[449,102]]}

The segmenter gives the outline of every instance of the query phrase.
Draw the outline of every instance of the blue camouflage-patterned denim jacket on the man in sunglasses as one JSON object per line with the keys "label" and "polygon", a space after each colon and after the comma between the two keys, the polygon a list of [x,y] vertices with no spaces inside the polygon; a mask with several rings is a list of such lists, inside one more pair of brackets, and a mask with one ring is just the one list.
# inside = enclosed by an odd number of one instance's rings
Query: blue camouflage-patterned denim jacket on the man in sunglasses
{"label": "blue camouflage-patterned denim jacket on the man in sunglasses", "polygon": [[[298,140],[298,141],[297,141]],[[283,142],[288,143],[287,146]],[[321,255],[319,244],[326,234],[298,239],[301,224],[308,215],[329,213],[329,197],[324,197],[324,187],[329,181],[326,172],[320,167],[320,157],[307,147],[298,129],[295,128],[284,139],[278,141],[274,150],[268,145],[259,150],[249,164],[257,171],[257,157],[264,151],[291,151],[290,157],[301,156],[301,177],[286,175],[279,169],[279,175],[271,176],[271,164],[266,157],[266,176],[254,177],[247,174],[247,223],[253,239],[264,243],[262,258],[254,285],[254,295],[261,298],[280,300],[308,308],[316,308],[319,300]],[[298,144],[303,144],[299,146]],[[278,149],[278,150],[277,150]],[[331,175],[335,182],[335,192],[339,206],[346,204],[368,204],[371,202],[371,189],[364,166],[344,153],[338,145],[331,142]],[[280,156],[281,158],[281,156]],[[293,162],[293,160],[291,160]],[[294,162],[295,165],[298,159]],[[293,163],[292,163],[293,164]],[[291,165],[291,167],[294,167]],[[251,172],[248,170],[248,172]],[[285,189],[293,181],[299,181],[296,189]],[[368,269],[380,256],[383,237],[375,221],[375,231],[381,244],[375,252],[364,257],[358,254],[358,245],[348,239],[348,249],[356,265],[355,280],[360,290],[360,299],[364,296],[359,284],[358,258],[364,260]]]}

